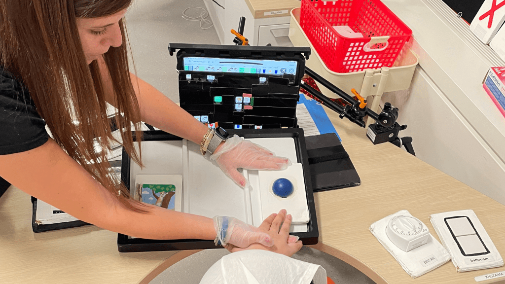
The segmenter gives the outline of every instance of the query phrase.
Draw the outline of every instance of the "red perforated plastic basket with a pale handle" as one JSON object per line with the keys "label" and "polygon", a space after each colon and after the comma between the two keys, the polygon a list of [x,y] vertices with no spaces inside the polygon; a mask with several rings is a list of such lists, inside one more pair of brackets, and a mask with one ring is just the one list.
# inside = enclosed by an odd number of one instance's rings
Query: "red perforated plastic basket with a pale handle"
{"label": "red perforated plastic basket with a pale handle", "polygon": [[[363,37],[346,37],[334,26]],[[300,26],[328,69],[338,73],[391,67],[412,30],[379,0],[301,0]]]}

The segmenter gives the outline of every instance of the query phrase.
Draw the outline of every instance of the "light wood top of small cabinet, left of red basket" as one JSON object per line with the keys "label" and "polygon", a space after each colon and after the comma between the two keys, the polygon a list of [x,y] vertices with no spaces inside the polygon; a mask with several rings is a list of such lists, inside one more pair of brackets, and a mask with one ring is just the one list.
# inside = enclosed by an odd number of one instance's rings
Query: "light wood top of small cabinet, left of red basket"
{"label": "light wood top of small cabinet, left of red basket", "polygon": [[[234,1],[245,1],[247,7],[251,11],[252,16],[255,19],[260,18],[271,18],[271,17],[286,17],[289,16],[291,9],[300,7],[299,0],[234,0]],[[273,14],[265,16],[265,12],[275,12],[275,11],[285,11],[282,14]]]}

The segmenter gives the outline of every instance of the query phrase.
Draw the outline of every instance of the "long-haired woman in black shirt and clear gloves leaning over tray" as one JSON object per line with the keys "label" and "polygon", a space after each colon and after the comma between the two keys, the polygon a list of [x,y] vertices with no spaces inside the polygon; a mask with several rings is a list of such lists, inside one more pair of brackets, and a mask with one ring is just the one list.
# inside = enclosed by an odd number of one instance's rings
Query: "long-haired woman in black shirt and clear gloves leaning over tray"
{"label": "long-haired woman in black shirt and clear gloves leaning over tray", "polygon": [[[203,153],[215,136],[129,73],[123,16],[131,1],[0,0],[0,176],[80,220],[137,238],[272,246],[267,233],[234,218],[213,221],[132,201],[109,174],[106,151],[95,153],[94,137],[103,149],[113,140],[106,102],[121,113],[115,122],[123,147],[140,165],[131,122],[191,140]],[[245,142],[223,141],[213,152],[242,186],[237,168],[280,169],[289,162]]]}

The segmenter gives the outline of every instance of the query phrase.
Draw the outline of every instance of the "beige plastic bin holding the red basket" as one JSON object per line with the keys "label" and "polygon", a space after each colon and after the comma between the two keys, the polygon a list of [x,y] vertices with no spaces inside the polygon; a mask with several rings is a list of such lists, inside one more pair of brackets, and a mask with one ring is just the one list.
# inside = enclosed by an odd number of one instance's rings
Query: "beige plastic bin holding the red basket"
{"label": "beige plastic bin holding the red basket", "polygon": [[[371,110],[377,111],[383,92],[409,88],[414,70],[419,63],[418,57],[409,48],[402,50],[393,67],[382,67],[375,70],[367,69],[350,73],[333,72],[326,67],[314,46],[307,39],[300,27],[299,19],[300,8],[291,10],[289,39],[291,39],[294,46],[309,46],[311,48],[312,54],[307,60],[306,66],[351,96],[353,96],[351,88],[355,88],[363,97],[374,96],[374,102],[372,106],[369,106]],[[321,84],[318,84],[318,86],[326,97],[339,98],[337,94]]]}

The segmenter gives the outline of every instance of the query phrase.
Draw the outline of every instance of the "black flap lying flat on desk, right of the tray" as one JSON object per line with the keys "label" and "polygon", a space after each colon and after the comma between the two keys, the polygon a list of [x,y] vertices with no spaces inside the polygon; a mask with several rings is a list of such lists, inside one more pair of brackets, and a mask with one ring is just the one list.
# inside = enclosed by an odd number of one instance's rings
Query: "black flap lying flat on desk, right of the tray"
{"label": "black flap lying flat on desk, right of the tray", "polygon": [[360,176],[335,133],[305,137],[315,192],[361,184]]}

